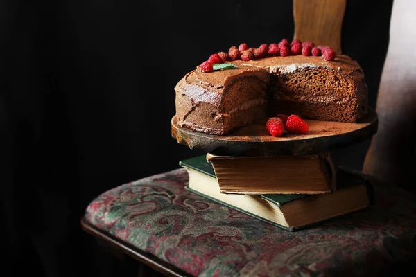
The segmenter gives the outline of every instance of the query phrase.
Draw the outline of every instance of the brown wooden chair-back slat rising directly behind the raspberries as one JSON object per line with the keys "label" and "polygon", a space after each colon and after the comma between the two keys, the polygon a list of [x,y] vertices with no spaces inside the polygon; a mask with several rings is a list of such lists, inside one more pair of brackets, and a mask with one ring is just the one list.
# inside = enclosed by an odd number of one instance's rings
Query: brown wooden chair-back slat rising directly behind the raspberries
{"label": "brown wooden chair-back slat rising directly behind the raspberries", "polygon": [[294,39],[331,46],[341,54],[347,0],[293,0]]}

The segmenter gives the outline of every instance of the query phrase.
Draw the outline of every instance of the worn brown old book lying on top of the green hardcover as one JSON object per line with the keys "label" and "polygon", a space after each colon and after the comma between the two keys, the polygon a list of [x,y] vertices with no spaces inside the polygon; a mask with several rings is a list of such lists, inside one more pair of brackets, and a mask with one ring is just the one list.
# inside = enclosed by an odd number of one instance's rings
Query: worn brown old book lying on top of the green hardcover
{"label": "worn brown old book lying on top of the green hardcover", "polygon": [[323,194],[336,190],[336,165],[329,153],[305,156],[229,157],[207,154],[220,193]]}

